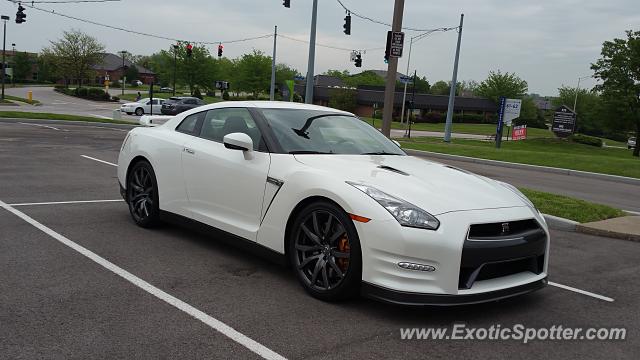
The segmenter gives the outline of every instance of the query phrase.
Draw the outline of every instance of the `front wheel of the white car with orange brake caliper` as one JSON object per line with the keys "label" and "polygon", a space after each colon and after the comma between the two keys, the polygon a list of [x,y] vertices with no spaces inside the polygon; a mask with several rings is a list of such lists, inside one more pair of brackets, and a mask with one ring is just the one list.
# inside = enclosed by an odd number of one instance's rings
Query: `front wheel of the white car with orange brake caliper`
{"label": "front wheel of the white car with orange brake caliper", "polygon": [[340,207],[328,201],[306,206],[293,223],[288,250],[293,271],[311,296],[340,301],[358,295],[360,239],[353,221]]}

